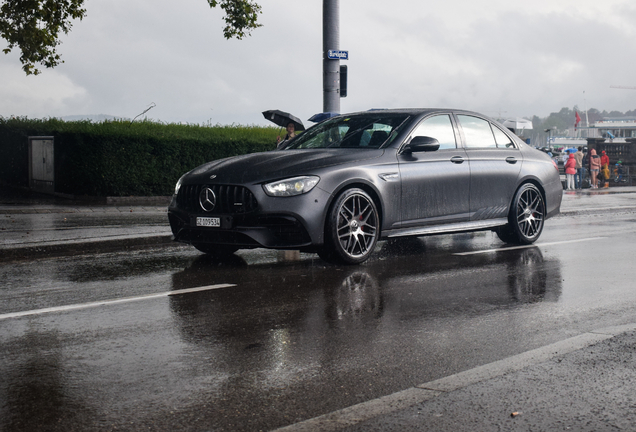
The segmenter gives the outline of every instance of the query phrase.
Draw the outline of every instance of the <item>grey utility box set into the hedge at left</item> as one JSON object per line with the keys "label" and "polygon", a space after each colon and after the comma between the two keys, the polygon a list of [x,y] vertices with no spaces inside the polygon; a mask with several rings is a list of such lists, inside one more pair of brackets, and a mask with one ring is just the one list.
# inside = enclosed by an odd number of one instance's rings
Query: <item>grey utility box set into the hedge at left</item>
{"label": "grey utility box set into the hedge at left", "polygon": [[29,137],[29,187],[38,192],[55,192],[53,137]]}

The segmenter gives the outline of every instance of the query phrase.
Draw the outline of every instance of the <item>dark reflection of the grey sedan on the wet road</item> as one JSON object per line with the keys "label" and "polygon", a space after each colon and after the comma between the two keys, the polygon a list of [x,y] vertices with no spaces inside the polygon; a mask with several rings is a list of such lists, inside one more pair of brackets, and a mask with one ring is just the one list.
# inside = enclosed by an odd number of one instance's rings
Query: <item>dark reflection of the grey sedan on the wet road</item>
{"label": "dark reflection of the grey sedan on the wet road", "polygon": [[437,242],[385,243],[376,259],[355,267],[201,256],[173,275],[173,289],[237,286],[171,297],[170,309],[183,340],[210,358],[220,379],[215,403],[224,410],[240,403],[237,388],[293,395],[344,385],[365,400],[374,388],[462,370],[474,364],[471,356],[496,358],[494,338],[531,326],[516,310],[561,295],[560,263],[546,262],[536,247],[454,256]]}

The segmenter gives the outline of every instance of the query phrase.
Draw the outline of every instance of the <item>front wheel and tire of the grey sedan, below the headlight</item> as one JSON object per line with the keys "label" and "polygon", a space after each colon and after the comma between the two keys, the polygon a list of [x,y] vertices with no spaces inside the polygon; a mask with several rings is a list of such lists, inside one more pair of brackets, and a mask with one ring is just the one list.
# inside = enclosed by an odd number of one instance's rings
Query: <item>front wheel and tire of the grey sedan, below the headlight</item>
{"label": "front wheel and tire of the grey sedan, below the headlight", "polygon": [[380,235],[380,220],[373,199],[362,189],[347,189],[331,207],[325,224],[321,258],[344,264],[366,261]]}

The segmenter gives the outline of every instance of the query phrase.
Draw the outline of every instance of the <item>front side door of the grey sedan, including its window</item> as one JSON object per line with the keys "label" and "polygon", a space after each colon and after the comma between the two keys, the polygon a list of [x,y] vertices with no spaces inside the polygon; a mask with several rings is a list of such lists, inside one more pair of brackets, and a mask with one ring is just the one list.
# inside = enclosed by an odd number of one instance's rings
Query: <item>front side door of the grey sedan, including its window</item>
{"label": "front side door of the grey sedan, including its window", "polygon": [[450,114],[422,120],[405,140],[427,136],[439,141],[436,151],[400,152],[401,227],[466,221],[469,218],[470,168],[459,147]]}

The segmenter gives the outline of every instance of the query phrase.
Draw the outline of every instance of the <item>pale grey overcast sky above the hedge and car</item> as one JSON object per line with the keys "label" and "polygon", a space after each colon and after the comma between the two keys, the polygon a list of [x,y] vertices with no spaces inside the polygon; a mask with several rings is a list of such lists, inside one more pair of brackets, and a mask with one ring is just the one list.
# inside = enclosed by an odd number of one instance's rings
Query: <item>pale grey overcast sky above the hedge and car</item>
{"label": "pale grey overcast sky above the hedge and car", "polygon": [[[0,53],[0,115],[107,114],[268,124],[322,111],[322,1],[261,0],[263,27],[223,38],[206,0],[86,0],[58,52],[25,76]],[[341,111],[450,107],[545,117],[562,107],[636,108],[634,0],[341,0],[349,51]],[[4,48],[6,43],[0,40]]]}

